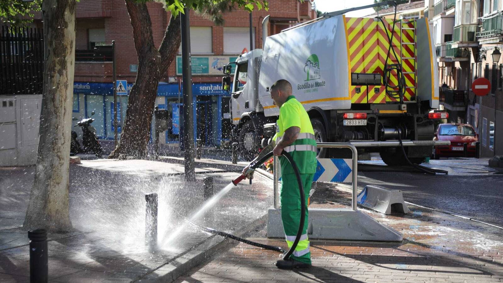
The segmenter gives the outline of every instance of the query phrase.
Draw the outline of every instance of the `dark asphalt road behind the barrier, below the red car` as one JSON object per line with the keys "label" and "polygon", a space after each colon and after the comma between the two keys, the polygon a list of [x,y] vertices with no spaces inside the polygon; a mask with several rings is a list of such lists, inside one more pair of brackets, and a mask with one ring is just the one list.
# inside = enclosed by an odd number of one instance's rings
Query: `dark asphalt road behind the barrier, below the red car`
{"label": "dark asphalt road behind the barrier, below the red car", "polygon": [[424,165],[448,170],[431,175],[393,169],[380,160],[359,163],[358,188],[367,184],[402,190],[406,202],[441,209],[503,227],[503,173],[487,159],[450,158]]}

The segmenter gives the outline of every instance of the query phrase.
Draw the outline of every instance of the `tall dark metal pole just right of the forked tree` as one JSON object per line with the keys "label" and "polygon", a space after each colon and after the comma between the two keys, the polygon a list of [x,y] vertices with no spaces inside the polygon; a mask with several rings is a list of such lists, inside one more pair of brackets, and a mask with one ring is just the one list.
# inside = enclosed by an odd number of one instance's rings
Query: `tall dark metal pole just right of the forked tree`
{"label": "tall dark metal pole just right of the forked tree", "polygon": [[182,140],[185,150],[185,180],[195,181],[196,173],[194,166],[194,115],[192,100],[192,63],[190,54],[190,20],[189,8],[184,9],[185,14],[181,14],[182,28],[182,77],[183,77],[183,103],[184,103],[184,137]]}

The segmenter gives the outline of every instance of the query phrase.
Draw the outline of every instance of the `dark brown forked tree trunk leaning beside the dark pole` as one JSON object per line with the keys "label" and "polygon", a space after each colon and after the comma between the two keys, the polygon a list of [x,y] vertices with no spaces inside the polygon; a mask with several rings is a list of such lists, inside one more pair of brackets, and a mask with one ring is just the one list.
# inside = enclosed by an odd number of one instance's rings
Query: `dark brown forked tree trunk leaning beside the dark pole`
{"label": "dark brown forked tree trunk leaning beside the dark pole", "polygon": [[152,23],[145,4],[126,0],[138,55],[138,73],[129,93],[126,119],[117,148],[109,158],[119,154],[144,158],[150,139],[150,125],[157,97],[157,84],[175,59],[180,46],[180,19],[171,17],[159,49],[154,46]]}

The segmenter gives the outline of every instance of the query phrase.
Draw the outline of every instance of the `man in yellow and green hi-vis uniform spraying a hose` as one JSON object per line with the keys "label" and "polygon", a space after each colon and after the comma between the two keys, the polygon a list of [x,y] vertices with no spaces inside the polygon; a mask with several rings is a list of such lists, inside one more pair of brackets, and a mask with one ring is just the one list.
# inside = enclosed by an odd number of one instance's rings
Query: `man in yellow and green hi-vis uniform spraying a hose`
{"label": "man in yellow and green hi-vis uniform spraying a hose", "polygon": [[[286,242],[290,248],[293,245],[299,229],[300,215],[305,213],[304,230],[295,251],[288,260],[280,259],[276,262],[278,268],[295,268],[311,266],[311,253],[309,252],[309,240],[307,238],[307,199],[311,190],[314,173],[316,172],[316,140],[311,121],[304,107],[292,96],[292,85],[285,79],[276,81],[271,86],[271,98],[274,104],[280,108],[280,116],[277,123],[277,133],[273,140],[276,141],[264,148],[258,158],[273,150],[274,155],[279,156],[281,164],[281,219],[285,229]],[[281,156],[285,150],[292,155],[299,168],[300,177],[304,186],[306,211],[301,212],[300,193],[297,177],[292,165]],[[243,169],[243,174],[248,167]],[[246,177],[253,178],[248,174]]]}

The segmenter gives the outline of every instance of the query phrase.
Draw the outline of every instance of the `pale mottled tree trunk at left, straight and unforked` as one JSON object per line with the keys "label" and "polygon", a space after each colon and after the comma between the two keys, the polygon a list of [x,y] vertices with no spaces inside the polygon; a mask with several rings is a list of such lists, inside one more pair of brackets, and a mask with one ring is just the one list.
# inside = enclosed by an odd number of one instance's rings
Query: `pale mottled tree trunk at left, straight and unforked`
{"label": "pale mottled tree trunk at left, straight and unforked", "polygon": [[24,229],[71,229],[68,205],[75,0],[44,0],[44,87],[35,181]]}

